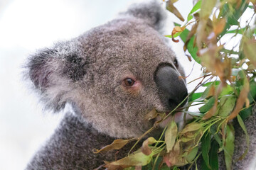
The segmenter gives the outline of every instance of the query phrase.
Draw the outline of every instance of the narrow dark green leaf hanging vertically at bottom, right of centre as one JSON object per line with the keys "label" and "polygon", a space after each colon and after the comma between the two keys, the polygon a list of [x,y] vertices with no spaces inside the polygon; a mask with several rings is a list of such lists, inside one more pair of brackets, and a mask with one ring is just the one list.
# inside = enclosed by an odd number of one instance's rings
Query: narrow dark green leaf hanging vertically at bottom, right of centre
{"label": "narrow dark green leaf hanging vertically at bottom, right of centre", "polygon": [[210,151],[210,133],[206,133],[203,135],[202,139],[202,157],[204,162],[206,163],[206,166],[210,169],[210,162],[209,162],[209,151]]}

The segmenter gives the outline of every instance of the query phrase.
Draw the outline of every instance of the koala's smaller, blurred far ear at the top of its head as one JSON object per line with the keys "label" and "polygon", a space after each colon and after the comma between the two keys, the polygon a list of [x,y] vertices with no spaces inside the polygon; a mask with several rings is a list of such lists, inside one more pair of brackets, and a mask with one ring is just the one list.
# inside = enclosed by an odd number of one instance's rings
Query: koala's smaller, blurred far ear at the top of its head
{"label": "koala's smaller, blurred far ear at the top of its head", "polygon": [[166,19],[166,13],[158,1],[151,0],[141,4],[131,5],[127,12],[122,14],[128,14],[134,16],[135,18],[141,18],[149,26],[155,28],[156,30],[161,30],[163,28],[164,21]]}

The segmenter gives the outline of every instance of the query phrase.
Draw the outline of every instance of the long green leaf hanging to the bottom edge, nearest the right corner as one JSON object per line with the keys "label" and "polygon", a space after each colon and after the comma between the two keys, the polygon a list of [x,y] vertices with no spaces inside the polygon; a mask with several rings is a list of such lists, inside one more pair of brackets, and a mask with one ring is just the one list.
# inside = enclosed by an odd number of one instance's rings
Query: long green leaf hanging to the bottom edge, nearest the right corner
{"label": "long green leaf hanging to the bottom edge, nearest the right corner", "polygon": [[224,155],[227,170],[232,169],[232,160],[235,149],[235,130],[233,125],[227,125],[227,137],[225,138]]}

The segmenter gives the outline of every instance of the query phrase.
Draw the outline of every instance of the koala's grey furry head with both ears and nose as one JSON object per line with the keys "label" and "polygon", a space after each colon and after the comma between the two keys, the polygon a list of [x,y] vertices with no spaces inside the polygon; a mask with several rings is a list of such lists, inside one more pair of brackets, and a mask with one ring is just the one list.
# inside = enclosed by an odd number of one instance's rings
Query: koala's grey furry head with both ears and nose
{"label": "koala's grey furry head with both ears and nose", "polygon": [[28,59],[28,77],[46,108],[71,103],[87,123],[112,137],[151,128],[153,108],[169,112],[187,96],[183,69],[159,33],[164,10],[134,5],[119,18]]}

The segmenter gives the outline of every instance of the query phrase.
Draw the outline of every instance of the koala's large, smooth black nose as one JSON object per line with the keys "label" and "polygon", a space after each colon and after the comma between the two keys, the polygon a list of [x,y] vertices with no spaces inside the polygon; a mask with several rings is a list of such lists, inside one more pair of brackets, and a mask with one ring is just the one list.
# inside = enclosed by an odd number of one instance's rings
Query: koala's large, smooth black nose
{"label": "koala's large, smooth black nose", "polygon": [[[169,65],[160,66],[154,75],[161,102],[169,109],[174,109],[188,96],[185,81],[179,76],[178,72]],[[185,103],[186,101],[181,106]]]}

